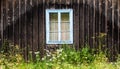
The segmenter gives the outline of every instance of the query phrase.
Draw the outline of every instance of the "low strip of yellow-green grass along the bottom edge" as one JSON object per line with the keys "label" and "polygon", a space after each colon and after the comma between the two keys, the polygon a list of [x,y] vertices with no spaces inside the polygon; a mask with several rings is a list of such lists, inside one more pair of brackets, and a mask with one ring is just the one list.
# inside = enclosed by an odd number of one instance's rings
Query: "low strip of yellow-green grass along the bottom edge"
{"label": "low strip of yellow-green grass along the bottom edge", "polygon": [[[11,64],[11,66],[10,66]],[[116,63],[110,63],[110,62],[98,62],[95,61],[93,63],[87,64],[69,64],[67,62],[63,62],[61,64],[59,63],[19,63],[14,64],[12,63],[8,64],[8,68],[6,68],[4,65],[0,66],[0,69],[120,69],[119,62]]]}

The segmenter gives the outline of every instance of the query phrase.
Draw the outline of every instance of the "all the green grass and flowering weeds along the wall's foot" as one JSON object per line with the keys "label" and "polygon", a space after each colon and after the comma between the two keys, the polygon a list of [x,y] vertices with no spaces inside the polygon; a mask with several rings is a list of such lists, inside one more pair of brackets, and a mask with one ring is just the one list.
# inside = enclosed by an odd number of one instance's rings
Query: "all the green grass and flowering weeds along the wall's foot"
{"label": "all the green grass and flowering weeds along the wall's foot", "polygon": [[[36,60],[25,62],[19,53],[9,55],[10,59],[2,55],[0,69],[120,69],[120,61],[109,62],[102,52],[97,54],[88,47],[75,51],[67,46],[54,52],[46,50],[46,56],[40,59],[39,52],[35,52]],[[12,60],[12,61],[11,61]]]}

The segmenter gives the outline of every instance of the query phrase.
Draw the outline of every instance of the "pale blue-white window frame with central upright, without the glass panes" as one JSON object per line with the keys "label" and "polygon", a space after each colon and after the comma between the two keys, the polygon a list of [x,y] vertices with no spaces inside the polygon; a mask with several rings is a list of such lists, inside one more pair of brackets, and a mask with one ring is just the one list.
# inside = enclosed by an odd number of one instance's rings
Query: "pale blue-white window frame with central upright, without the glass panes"
{"label": "pale blue-white window frame with central upright, without the glass panes", "polygon": [[[49,13],[58,13],[58,41],[51,41],[49,39]],[[70,40],[61,41],[61,13],[69,13],[69,20],[70,20]],[[73,10],[72,9],[46,9],[46,44],[73,44]]]}

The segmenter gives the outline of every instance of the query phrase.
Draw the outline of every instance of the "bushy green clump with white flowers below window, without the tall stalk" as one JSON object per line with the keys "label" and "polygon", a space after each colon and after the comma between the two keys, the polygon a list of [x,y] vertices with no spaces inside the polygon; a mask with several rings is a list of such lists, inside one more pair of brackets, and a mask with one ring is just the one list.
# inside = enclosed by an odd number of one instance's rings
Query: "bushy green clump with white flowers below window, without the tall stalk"
{"label": "bushy green clump with white flowers below window, without the tall stalk", "polygon": [[80,51],[76,51],[70,48],[69,45],[63,45],[62,48],[57,49],[54,52],[46,51],[46,56],[42,58],[42,61],[61,64],[67,62],[70,64],[91,63],[95,60],[93,51],[88,48],[82,48]]}

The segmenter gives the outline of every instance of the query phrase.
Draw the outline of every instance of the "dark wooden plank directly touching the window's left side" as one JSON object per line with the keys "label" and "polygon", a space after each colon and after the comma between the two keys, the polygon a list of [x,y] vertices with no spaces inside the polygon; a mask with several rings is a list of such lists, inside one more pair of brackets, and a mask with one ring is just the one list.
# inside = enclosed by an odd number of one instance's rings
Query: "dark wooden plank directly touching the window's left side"
{"label": "dark wooden plank directly touching the window's left side", "polygon": [[[39,0],[41,1],[41,0]],[[44,0],[42,0],[44,3]],[[45,55],[44,49],[46,49],[46,40],[45,40],[45,4],[39,6],[39,51],[40,56]]]}

